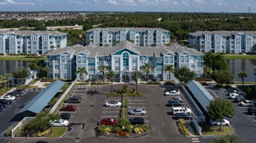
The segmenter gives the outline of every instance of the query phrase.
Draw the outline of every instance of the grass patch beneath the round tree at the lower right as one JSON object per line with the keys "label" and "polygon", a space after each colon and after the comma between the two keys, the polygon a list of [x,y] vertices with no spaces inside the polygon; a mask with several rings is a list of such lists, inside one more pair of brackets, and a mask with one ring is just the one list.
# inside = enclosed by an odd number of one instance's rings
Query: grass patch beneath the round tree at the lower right
{"label": "grass patch beneath the round tree at the lower right", "polygon": [[210,127],[209,130],[206,131],[206,135],[229,135],[231,133],[233,133],[233,128],[231,127],[227,127],[227,126],[222,126],[222,130],[224,130],[224,132],[219,132],[219,126],[216,127]]}

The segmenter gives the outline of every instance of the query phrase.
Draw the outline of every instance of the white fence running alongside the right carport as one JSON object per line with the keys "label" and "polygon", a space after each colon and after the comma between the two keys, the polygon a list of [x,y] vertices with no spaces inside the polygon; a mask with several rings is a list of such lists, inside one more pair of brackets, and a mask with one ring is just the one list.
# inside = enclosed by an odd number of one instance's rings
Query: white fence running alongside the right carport
{"label": "white fence running alongside the right carport", "polygon": [[206,121],[206,116],[204,116],[203,112],[200,110],[200,108],[198,107],[198,105],[196,105],[195,101],[193,100],[193,98],[190,96],[189,92],[187,91],[187,89],[182,85],[182,83],[180,82],[180,80],[178,80],[177,78],[175,78],[175,81],[179,83],[180,87],[182,88],[182,91],[185,93],[185,95],[187,96],[187,98],[189,99],[191,105],[193,105],[194,109],[196,110],[196,112],[198,113],[199,117],[198,119],[201,119],[202,121]]}

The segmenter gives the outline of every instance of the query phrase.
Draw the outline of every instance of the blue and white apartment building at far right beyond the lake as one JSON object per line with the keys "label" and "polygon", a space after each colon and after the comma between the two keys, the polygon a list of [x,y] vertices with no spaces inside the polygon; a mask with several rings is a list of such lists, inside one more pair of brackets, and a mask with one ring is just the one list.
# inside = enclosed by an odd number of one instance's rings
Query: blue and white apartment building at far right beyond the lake
{"label": "blue and white apartment building at far right beyond the lake", "polygon": [[196,31],[189,33],[189,45],[199,52],[234,54],[253,52],[256,31]]}

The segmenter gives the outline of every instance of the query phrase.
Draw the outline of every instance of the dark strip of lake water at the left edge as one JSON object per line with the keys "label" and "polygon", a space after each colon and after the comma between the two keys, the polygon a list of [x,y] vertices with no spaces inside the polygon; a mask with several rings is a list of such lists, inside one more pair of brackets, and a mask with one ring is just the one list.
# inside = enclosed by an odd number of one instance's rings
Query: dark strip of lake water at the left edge
{"label": "dark strip of lake water at the left edge", "polygon": [[18,68],[29,68],[29,61],[0,61],[0,75],[12,73]]}

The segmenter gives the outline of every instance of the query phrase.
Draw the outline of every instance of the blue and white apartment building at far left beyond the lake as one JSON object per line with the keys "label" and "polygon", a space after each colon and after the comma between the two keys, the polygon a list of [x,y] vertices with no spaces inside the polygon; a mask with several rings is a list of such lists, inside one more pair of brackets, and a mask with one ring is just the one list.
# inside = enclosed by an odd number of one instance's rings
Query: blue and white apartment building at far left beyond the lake
{"label": "blue and white apartment building at far left beyond the lake", "polygon": [[0,54],[46,54],[51,47],[67,47],[67,33],[59,31],[0,31]]}

